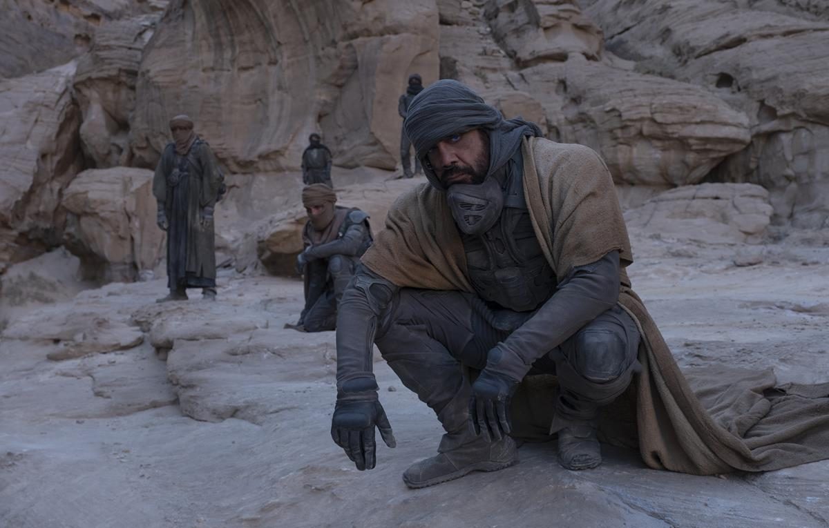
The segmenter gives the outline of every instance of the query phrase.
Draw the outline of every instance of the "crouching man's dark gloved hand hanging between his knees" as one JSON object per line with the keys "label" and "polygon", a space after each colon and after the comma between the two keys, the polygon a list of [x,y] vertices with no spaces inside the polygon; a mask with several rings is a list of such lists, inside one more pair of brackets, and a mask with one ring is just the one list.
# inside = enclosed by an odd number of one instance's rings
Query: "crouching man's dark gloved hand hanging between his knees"
{"label": "crouching man's dark gloved hand hanging between his knees", "polygon": [[487,354],[487,367],[472,384],[469,400],[469,429],[487,442],[510,433],[510,401],[529,370],[515,353],[498,343]]}

